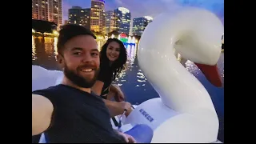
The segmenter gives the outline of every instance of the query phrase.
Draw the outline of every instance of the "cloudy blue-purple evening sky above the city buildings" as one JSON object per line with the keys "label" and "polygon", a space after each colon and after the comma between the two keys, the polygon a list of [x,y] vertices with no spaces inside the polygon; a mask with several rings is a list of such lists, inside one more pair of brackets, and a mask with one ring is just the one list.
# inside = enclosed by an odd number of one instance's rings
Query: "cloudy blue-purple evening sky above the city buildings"
{"label": "cloudy blue-purple evening sky above the city buildings", "polygon": [[[197,6],[217,14],[224,22],[224,0],[105,0],[105,10],[114,10],[120,6],[130,10],[131,18],[143,16],[155,17],[164,10],[171,10],[178,6]],[[91,0],[62,0],[63,21],[68,20],[68,10],[72,6],[90,8]]]}

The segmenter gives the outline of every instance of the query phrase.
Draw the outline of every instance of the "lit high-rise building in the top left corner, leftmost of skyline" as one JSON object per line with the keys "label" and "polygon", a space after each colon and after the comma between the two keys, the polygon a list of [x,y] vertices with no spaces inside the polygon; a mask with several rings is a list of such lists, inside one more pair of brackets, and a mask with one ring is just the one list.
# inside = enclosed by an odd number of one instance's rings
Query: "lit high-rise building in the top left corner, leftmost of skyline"
{"label": "lit high-rise building in the top left corner, leftmost of skyline", "polygon": [[32,19],[62,25],[62,0],[32,0]]}

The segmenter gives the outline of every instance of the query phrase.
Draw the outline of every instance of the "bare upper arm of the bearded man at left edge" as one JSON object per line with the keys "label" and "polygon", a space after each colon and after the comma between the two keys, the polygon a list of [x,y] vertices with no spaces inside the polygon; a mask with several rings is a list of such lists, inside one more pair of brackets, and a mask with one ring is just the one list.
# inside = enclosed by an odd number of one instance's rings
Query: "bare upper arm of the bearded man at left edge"
{"label": "bare upper arm of the bearded man at left edge", "polygon": [[49,126],[54,106],[48,98],[32,94],[32,136],[41,134]]}

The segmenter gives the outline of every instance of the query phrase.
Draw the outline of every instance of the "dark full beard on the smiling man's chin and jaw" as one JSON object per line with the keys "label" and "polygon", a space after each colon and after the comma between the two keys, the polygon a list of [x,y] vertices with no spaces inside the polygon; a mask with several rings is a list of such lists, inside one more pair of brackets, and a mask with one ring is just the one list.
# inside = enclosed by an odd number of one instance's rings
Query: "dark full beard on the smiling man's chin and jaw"
{"label": "dark full beard on the smiling man's chin and jaw", "polygon": [[[79,69],[77,69],[79,71]],[[75,85],[83,88],[91,88],[97,80],[98,70],[95,70],[94,78],[83,78],[82,76],[74,73],[74,70],[70,70],[66,65],[64,68],[64,74],[66,78],[69,78]]]}

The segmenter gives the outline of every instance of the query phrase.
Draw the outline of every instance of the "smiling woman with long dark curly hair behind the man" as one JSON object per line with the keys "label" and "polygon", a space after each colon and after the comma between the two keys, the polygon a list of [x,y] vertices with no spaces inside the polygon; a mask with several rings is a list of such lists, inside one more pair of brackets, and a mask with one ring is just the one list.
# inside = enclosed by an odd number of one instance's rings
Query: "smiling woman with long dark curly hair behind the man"
{"label": "smiling woman with long dark curly hair behind the man", "polygon": [[[130,113],[130,103],[123,102],[124,95],[117,85],[111,84],[122,70],[125,69],[127,61],[126,48],[118,38],[109,38],[102,46],[100,52],[100,72],[98,80],[95,82],[92,90],[95,94],[100,95],[106,106],[110,110],[111,116],[122,114],[123,110]],[[110,100],[114,98],[116,102]]]}

